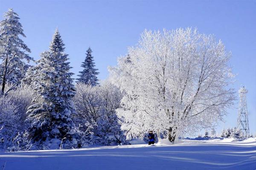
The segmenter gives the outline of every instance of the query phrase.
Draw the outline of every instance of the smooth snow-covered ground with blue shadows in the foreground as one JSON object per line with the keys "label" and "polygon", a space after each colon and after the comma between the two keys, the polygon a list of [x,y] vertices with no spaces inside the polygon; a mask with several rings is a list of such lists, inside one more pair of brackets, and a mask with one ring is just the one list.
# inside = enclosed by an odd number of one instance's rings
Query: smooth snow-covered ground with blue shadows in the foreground
{"label": "smooth snow-covered ground with blue shadows in the foreground", "polygon": [[0,170],[256,170],[256,138],[232,141],[0,153]]}

